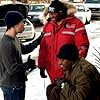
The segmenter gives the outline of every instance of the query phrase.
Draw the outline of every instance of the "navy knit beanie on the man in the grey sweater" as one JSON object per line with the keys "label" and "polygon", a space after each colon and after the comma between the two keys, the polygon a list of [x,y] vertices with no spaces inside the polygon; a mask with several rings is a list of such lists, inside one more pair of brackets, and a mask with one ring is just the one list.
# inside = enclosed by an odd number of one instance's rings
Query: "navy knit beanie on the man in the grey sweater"
{"label": "navy knit beanie on the man in the grey sweater", "polygon": [[22,21],[24,16],[18,11],[8,11],[4,19],[6,26],[10,28]]}

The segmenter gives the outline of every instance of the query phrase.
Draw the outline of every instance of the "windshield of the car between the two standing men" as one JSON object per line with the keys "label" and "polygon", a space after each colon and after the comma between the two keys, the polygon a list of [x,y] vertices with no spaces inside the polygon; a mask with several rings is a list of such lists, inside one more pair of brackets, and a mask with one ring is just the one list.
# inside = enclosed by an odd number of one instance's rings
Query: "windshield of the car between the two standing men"
{"label": "windshield of the car between the two standing men", "polygon": [[29,11],[30,12],[42,12],[44,10],[44,5],[30,5]]}

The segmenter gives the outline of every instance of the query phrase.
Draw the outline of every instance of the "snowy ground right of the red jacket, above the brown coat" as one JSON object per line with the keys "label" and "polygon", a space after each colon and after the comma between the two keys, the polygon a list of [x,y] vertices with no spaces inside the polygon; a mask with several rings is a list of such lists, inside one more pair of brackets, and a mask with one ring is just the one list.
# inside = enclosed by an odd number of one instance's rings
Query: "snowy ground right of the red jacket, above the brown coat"
{"label": "snowy ground right of the red jacket, above the brown coat", "polygon": [[[86,25],[85,27],[90,41],[89,51],[86,60],[90,61],[94,65],[97,65],[96,64],[97,57],[94,56],[93,54],[96,54],[100,58],[100,54],[98,53],[100,52],[100,22],[97,24],[91,23],[89,25]],[[100,72],[100,67],[97,69]]]}

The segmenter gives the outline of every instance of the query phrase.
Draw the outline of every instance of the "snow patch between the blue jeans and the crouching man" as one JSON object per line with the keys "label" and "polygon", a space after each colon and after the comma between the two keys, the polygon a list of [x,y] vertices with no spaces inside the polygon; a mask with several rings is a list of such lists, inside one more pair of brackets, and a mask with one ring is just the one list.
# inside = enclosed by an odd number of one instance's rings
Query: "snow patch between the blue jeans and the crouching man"
{"label": "snow patch between the blue jeans and the crouching man", "polygon": [[30,73],[26,82],[26,99],[25,100],[47,100],[46,87],[50,83],[49,78],[43,79],[39,75],[39,69]]}

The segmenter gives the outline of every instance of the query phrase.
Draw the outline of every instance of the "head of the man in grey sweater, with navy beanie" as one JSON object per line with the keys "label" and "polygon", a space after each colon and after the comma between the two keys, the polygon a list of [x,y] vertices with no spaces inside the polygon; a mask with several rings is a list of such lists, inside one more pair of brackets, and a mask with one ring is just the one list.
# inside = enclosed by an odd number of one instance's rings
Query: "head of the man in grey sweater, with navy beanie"
{"label": "head of the man in grey sweater, with navy beanie", "polygon": [[18,11],[8,11],[5,15],[5,24],[7,30],[10,28],[15,28],[16,33],[24,31],[24,16]]}

